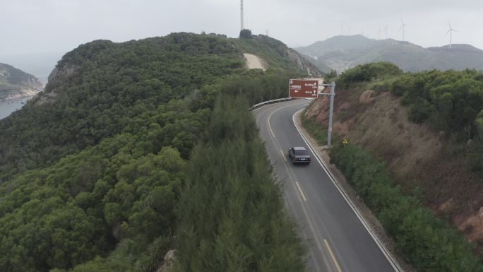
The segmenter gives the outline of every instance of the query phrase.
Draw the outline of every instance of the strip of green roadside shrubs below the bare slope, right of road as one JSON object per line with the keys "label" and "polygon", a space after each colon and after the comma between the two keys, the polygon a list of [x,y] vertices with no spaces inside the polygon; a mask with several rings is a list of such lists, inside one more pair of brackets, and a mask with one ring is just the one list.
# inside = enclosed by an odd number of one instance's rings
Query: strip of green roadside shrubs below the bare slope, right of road
{"label": "strip of green roadside shrubs below the bare slope, right of road", "polygon": [[376,213],[396,248],[411,264],[428,272],[483,271],[482,260],[472,254],[471,244],[417,198],[402,194],[390,181],[384,165],[363,148],[353,144],[334,146],[330,162]]}

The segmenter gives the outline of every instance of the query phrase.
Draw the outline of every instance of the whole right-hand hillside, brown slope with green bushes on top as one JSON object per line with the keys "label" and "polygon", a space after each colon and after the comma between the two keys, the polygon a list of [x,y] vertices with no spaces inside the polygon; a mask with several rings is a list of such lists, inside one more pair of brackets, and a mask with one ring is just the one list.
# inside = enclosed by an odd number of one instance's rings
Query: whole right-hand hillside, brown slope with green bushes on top
{"label": "whole right-hand hillside, brown slope with green bushes on top", "polygon": [[[483,73],[402,73],[366,64],[336,81],[333,130],[386,165],[391,179],[483,252]],[[306,117],[327,125],[328,100]]]}

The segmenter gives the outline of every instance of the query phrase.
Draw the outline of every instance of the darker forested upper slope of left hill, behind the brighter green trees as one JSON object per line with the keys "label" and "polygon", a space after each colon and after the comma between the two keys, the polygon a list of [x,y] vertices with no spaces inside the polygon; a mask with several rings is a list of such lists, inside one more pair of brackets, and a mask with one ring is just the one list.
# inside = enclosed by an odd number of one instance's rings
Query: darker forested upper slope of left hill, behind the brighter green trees
{"label": "darker forested upper slope of left hill, behind the brighter green trees", "polygon": [[37,97],[0,122],[0,179],[134,131],[139,114],[196,90],[209,92],[210,84],[243,65],[228,39],[208,35],[81,45],[59,63],[60,69],[75,69],[73,74],[46,87],[55,102],[39,105]]}

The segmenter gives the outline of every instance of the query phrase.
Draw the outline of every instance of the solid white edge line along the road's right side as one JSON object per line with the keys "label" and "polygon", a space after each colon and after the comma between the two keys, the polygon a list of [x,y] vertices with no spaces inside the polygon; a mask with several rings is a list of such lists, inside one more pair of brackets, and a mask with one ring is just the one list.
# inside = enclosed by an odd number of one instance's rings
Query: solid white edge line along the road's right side
{"label": "solid white edge line along the road's right side", "polygon": [[388,259],[389,264],[391,266],[393,266],[393,268],[394,268],[395,271],[399,271],[399,272],[403,271],[403,268],[400,268],[398,262],[395,261],[393,259],[393,256],[390,255],[390,253],[388,252],[388,249],[386,249],[386,247],[378,240],[378,237],[376,237],[376,235],[374,235],[374,232],[369,227],[369,224],[366,223],[366,220],[364,220],[364,218],[362,218],[362,215],[359,213],[359,210],[357,210],[356,206],[354,206],[354,203],[352,203],[352,201],[350,201],[350,199],[347,197],[347,194],[345,194],[344,189],[342,189],[342,187],[339,186],[338,182],[335,182],[335,179],[334,179],[332,173],[330,172],[330,170],[328,170],[328,167],[326,167],[326,165],[323,162],[323,160],[321,160],[320,158],[318,158],[318,155],[315,152],[314,148],[311,146],[311,144],[309,143],[309,141],[306,140],[304,134],[302,134],[302,131],[300,131],[299,126],[297,126],[297,122],[295,122],[295,115],[297,115],[299,112],[302,112],[302,110],[304,110],[304,109],[298,110],[297,112],[295,112],[292,115],[292,121],[294,122],[294,125],[295,125],[295,128],[297,129],[297,131],[299,131],[300,136],[302,136],[302,139],[304,140],[304,142],[306,143],[306,145],[309,146],[309,148],[311,149],[312,153],[314,153],[314,155],[316,157],[316,160],[321,165],[321,167],[323,168],[323,170],[326,172],[326,174],[330,178],[330,181],[332,181],[332,183],[338,189],[338,191],[340,192],[340,194],[342,194],[342,197],[344,197],[344,199],[347,202],[347,204],[349,204],[350,208],[352,208],[352,211],[354,211],[354,213],[357,215],[357,218],[359,218],[359,220],[361,221],[362,225],[364,225],[364,227],[366,228],[367,232],[369,232],[369,235],[371,235],[371,237],[374,240],[374,242],[376,242],[376,244],[379,247],[379,249],[381,249],[381,252],[383,252],[384,256],[386,256],[386,259]]}

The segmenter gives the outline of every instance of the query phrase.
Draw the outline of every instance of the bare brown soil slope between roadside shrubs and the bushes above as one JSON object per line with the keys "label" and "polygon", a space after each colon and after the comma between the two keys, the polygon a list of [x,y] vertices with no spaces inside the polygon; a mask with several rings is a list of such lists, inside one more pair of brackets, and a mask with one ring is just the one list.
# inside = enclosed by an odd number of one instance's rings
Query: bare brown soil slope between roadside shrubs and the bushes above
{"label": "bare brown soil slope between roadside shrubs and the bushes above", "polygon": [[[483,180],[468,172],[447,151],[443,133],[407,120],[397,97],[372,90],[340,90],[335,99],[333,131],[371,150],[387,163],[395,182],[423,200],[441,217],[483,247]],[[328,99],[313,102],[306,112],[326,126]]]}

